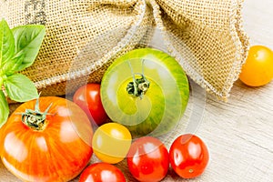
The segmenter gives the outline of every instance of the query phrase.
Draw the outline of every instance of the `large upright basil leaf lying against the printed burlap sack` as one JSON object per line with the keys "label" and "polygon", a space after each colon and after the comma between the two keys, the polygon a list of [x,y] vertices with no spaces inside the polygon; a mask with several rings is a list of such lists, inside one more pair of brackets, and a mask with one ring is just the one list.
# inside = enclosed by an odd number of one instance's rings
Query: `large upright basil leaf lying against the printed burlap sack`
{"label": "large upright basil leaf lying against the printed burlap sack", "polygon": [[31,66],[39,53],[45,36],[44,25],[21,25],[12,29],[15,37],[14,59],[21,58],[21,64],[15,66],[14,71],[21,71]]}

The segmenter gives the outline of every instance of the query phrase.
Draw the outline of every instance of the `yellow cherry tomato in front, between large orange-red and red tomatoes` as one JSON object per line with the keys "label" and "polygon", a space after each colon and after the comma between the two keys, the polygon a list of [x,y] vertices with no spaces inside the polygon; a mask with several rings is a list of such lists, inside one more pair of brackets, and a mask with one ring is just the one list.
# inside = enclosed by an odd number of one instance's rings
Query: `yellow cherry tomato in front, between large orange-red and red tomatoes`
{"label": "yellow cherry tomato in front, between large orange-red and red tomatoes", "polygon": [[96,129],[92,147],[94,154],[101,161],[116,164],[126,157],[131,142],[132,136],[126,126],[107,123]]}

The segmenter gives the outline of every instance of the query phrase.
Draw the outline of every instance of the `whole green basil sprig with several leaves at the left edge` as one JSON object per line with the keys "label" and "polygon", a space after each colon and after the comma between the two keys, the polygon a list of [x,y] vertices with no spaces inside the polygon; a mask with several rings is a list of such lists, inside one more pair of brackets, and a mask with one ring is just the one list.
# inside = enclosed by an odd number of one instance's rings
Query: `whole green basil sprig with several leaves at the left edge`
{"label": "whole green basil sprig with several leaves at the left edge", "polygon": [[0,127],[9,115],[5,93],[16,102],[38,97],[35,84],[18,72],[35,62],[44,37],[44,25],[19,25],[10,29],[4,19],[0,22]]}

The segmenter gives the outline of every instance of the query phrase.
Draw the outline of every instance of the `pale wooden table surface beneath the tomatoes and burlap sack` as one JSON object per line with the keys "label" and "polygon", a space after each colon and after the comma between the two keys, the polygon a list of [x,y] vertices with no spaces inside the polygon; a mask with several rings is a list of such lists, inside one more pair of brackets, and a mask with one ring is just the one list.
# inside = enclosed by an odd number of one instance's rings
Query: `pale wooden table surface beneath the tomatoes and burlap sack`
{"label": "pale wooden table surface beneath the tomatoes and burlap sack", "polygon": [[[244,29],[251,45],[273,49],[272,9],[271,0],[245,1]],[[230,95],[227,103],[213,96],[197,99],[202,112],[196,133],[210,153],[206,172],[194,180],[169,175],[166,181],[273,181],[273,81],[257,88],[237,81]],[[1,162],[0,174],[0,181],[18,181]]]}

